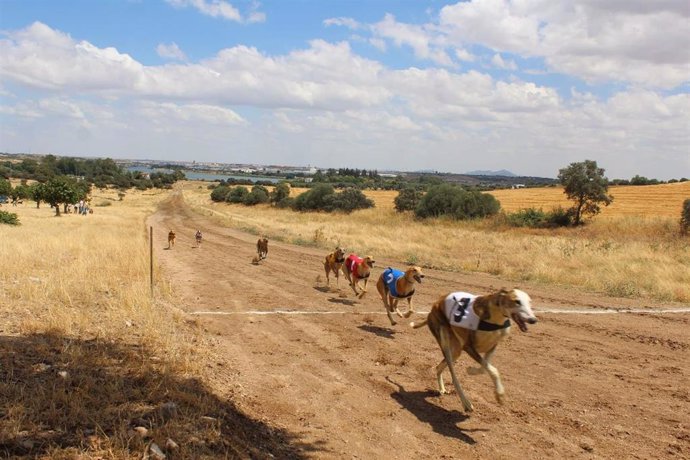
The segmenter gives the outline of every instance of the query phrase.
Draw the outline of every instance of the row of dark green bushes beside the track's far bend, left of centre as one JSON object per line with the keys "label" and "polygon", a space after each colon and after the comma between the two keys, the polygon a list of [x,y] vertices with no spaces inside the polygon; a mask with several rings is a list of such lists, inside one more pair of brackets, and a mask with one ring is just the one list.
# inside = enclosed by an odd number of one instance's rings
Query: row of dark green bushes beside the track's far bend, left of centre
{"label": "row of dark green bushes beside the track's far bend, left of centre", "polygon": [[346,188],[336,192],[330,184],[316,184],[295,198],[290,197],[290,186],[287,182],[279,183],[270,192],[263,185],[254,185],[251,190],[242,185],[219,185],[211,192],[211,199],[215,202],[241,203],[247,206],[271,203],[295,211],[352,212],[356,209],[374,207],[374,202],[364,196],[361,190]]}

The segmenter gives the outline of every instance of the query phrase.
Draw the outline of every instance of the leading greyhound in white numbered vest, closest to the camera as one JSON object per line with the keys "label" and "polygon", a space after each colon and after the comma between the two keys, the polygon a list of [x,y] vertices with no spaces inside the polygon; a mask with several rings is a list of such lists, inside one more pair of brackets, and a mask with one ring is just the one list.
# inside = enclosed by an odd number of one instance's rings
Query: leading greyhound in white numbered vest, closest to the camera
{"label": "leading greyhound in white numbered vest, closest to the camera", "polygon": [[[451,292],[438,299],[425,320],[410,323],[413,328],[429,326],[436,338],[443,360],[436,366],[436,378],[441,394],[446,393],[442,372],[448,367],[455,391],[466,412],[473,410],[472,403],[462,391],[453,363],[465,351],[481,368],[469,368],[472,375],[486,371],[494,382],[494,393],[499,404],[505,400],[501,376],[491,364],[496,347],[509,333],[510,320],[527,332],[527,324],[535,324],[532,300],[519,289],[501,289],[499,292],[475,296],[466,292]],[[480,353],[484,353],[484,356]]]}

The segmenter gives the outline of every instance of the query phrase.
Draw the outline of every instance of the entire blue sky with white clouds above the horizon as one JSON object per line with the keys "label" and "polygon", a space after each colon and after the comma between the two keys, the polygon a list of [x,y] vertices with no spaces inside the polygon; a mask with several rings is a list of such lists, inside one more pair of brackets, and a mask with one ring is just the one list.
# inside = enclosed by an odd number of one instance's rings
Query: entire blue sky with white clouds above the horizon
{"label": "entire blue sky with white clouds above the horizon", "polygon": [[690,177],[690,2],[0,0],[0,151]]}

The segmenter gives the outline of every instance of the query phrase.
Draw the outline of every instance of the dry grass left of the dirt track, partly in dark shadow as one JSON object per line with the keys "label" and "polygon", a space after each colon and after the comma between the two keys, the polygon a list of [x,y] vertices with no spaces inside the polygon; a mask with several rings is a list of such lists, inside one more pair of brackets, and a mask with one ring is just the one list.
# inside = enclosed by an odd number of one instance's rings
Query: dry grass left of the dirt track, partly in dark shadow
{"label": "dry grass left of the dirt track, partly in dark shadow", "polygon": [[168,306],[157,270],[152,301],[145,218],[167,195],[95,191],[111,204],[88,216],[10,207],[21,226],[0,225],[0,457],[139,459],[153,444],[176,458],[299,457],[209,389],[212,343]]}

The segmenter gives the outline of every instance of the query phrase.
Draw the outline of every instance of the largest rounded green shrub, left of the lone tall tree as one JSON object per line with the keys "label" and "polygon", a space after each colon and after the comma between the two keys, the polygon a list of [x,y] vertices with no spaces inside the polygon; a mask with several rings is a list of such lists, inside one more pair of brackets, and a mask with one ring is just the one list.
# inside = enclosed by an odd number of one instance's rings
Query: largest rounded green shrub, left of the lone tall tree
{"label": "largest rounded green shrub, left of the lone tall tree", "polygon": [[499,201],[493,195],[442,184],[429,188],[415,208],[415,215],[422,218],[449,216],[469,219],[496,214],[500,208]]}

